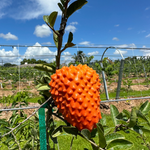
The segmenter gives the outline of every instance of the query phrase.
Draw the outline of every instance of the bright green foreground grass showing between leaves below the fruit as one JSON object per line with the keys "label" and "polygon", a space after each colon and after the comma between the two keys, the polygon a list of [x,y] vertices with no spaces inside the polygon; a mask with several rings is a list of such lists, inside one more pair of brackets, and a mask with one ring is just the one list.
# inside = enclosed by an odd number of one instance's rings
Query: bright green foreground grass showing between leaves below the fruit
{"label": "bright green foreground grass showing between leaves below the fruit", "polygon": [[[106,116],[107,125],[113,126],[113,122],[111,119],[111,115]],[[64,124],[62,121],[56,121],[57,126]],[[148,150],[147,147],[142,145],[142,140],[139,138],[139,135],[134,131],[129,131],[129,133],[125,133],[124,131],[119,131],[118,133],[125,136],[125,138],[134,143],[133,147],[130,150]],[[146,136],[150,139],[149,133]],[[61,136],[58,136],[59,148],[60,150],[69,150],[71,144],[72,136],[63,133]],[[98,136],[94,138],[94,141],[98,144]],[[148,140],[147,140],[148,141]],[[77,136],[77,139],[74,139],[72,150],[84,150],[87,148],[88,150],[92,150],[91,144],[89,144],[83,138]],[[57,149],[57,148],[56,148]],[[58,150],[58,149],[57,149]]]}

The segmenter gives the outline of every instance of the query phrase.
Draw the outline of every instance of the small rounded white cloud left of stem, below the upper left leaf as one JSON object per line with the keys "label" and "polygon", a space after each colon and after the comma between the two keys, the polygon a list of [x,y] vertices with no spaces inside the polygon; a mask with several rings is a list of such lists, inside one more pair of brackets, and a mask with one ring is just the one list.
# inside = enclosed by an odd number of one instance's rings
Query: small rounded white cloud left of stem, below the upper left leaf
{"label": "small rounded white cloud left of stem, below the upper left leaf", "polygon": [[52,34],[50,28],[46,25],[46,24],[43,24],[43,25],[37,25],[35,27],[35,31],[34,31],[34,34],[37,36],[37,37],[48,37],[50,36],[50,34]]}

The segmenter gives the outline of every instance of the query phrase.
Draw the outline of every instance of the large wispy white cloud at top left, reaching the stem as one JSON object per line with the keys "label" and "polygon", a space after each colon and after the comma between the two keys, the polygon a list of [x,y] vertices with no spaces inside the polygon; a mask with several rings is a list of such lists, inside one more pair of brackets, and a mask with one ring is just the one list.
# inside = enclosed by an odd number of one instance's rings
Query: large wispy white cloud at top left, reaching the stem
{"label": "large wispy white cloud at top left, reaching the stem", "polygon": [[[8,0],[7,0],[8,1]],[[43,15],[49,15],[53,11],[61,11],[57,5],[60,0],[19,0],[15,1],[16,7],[9,8],[9,14],[14,19],[35,19]]]}

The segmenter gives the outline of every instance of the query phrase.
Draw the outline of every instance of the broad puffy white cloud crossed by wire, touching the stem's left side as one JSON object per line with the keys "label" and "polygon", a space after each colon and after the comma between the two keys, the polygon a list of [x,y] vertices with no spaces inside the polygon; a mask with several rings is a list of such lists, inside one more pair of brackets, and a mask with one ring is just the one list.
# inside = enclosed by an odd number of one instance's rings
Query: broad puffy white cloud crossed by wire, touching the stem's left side
{"label": "broad puffy white cloud crossed by wire, touching the stem's left side", "polygon": [[[50,49],[48,47],[40,47],[40,46],[41,45],[37,42],[37,43],[35,43],[35,45],[33,45],[33,47],[28,47],[26,49],[24,57],[26,57],[26,58],[34,58],[35,55],[39,55],[39,56],[36,56],[35,59],[42,59],[42,60],[44,60],[44,59],[47,59],[47,58],[48,59],[51,58],[49,60],[49,61],[51,61],[52,58],[55,58],[55,56],[57,55],[57,51],[53,52],[53,51],[50,51]],[[42,55],[44,55],[44,56],[42,56]]]}

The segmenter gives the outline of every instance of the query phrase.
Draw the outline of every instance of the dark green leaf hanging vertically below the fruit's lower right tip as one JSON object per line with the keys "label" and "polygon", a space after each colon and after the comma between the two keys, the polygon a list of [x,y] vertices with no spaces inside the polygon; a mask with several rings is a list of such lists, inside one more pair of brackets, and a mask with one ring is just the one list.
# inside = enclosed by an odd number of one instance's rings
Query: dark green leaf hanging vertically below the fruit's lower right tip
{"label": "dark green leaf hanging vertically below the fruit's lower right tip", "polygon": [[104,136],[104,129],[100,123],[97,123],[96,125],[97,125],[97,131],[98,131],[99,146],[101,148],[105,148],[106,147],[106,139]]}

